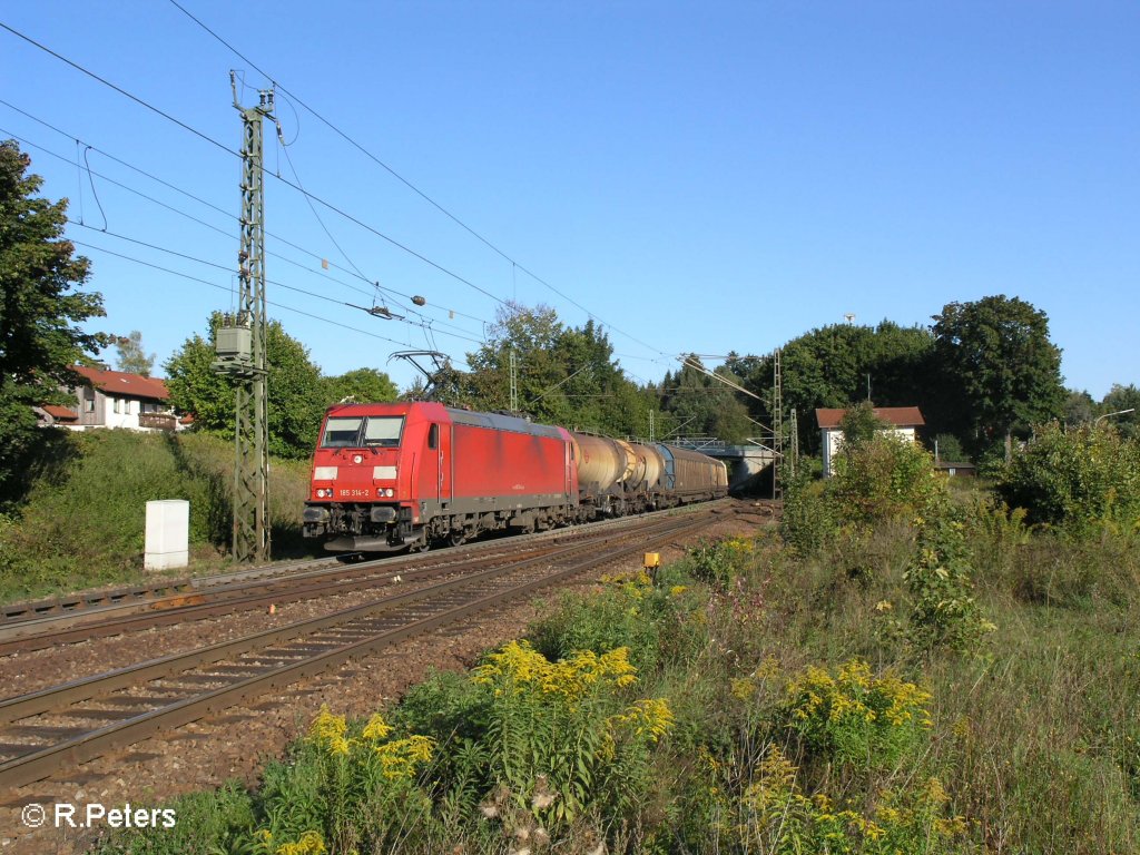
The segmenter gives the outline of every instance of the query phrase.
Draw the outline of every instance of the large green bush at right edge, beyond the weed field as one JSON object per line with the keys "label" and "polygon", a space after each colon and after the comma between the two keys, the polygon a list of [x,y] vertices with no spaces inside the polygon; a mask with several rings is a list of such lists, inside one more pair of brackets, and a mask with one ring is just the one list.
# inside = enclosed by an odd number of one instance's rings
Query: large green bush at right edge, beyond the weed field
{"label": "large green bush at right edge, beyond the weed field", "polygon": [[1032,523],[1086,536],[1140,531],[1140,441],[1108,424],[1040,427],[997,484]]}

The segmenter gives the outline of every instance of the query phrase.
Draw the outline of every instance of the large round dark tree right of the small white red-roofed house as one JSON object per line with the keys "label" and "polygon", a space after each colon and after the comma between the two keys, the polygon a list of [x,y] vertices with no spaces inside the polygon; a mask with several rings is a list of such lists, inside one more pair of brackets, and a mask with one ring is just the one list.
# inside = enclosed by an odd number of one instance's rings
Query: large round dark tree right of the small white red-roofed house
{"label": "large round dark tree right of the small white red-roofed house", "polygon": [[947,303],[934,320],[944,388],[959,392],[962,427],[982,445],[1004,437],[1009,461],[1015,432],[1027,434],[1064,409],[1061,351],[1049,340],[1049,318],[1002,294]]}

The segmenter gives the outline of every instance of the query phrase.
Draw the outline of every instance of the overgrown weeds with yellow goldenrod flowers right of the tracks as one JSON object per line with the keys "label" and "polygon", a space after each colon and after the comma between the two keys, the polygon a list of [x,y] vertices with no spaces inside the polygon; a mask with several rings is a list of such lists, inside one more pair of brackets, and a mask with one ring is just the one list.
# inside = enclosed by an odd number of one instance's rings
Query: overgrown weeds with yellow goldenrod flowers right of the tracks
{"label": "overgrown weeds with yellow goldenrod flowers right of the tracks", "polygon": [[565,595],[101,852],[1140,850],[1138,520],[1031,527],[863,446],[780,534]]}

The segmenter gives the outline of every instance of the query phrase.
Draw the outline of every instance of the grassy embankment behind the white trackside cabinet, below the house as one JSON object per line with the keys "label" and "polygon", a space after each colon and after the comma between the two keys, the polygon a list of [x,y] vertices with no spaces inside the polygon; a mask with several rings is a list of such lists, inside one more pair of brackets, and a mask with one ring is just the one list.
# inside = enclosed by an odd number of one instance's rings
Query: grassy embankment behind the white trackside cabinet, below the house
{"label": "grassy embankment behind the white trackside cabinet, below the house", "polygon": [[[0,600],[144,578],[146,503],[188,499],[196,569],[225,564],[234,446],[197,434],[44,431],[30,490],[0,514]],[[270,469],[275,554],[296,553],[306,464]],[[185,572],[185,571],[179,571]]]}

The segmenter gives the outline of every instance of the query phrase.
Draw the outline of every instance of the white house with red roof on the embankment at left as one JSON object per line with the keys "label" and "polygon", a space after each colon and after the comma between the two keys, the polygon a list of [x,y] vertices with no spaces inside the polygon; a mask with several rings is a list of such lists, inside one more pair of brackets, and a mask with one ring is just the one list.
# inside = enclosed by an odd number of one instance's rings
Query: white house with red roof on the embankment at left
{"label": "white house with red roof on the embankment at left", "polygon": [[123,427],[131,431],[173,431],[184,427],[170,406],[166,384],[157,377],[73,365],[83,383],[72,389],[75,408],[36,407],[43,425],[74,431]]}

